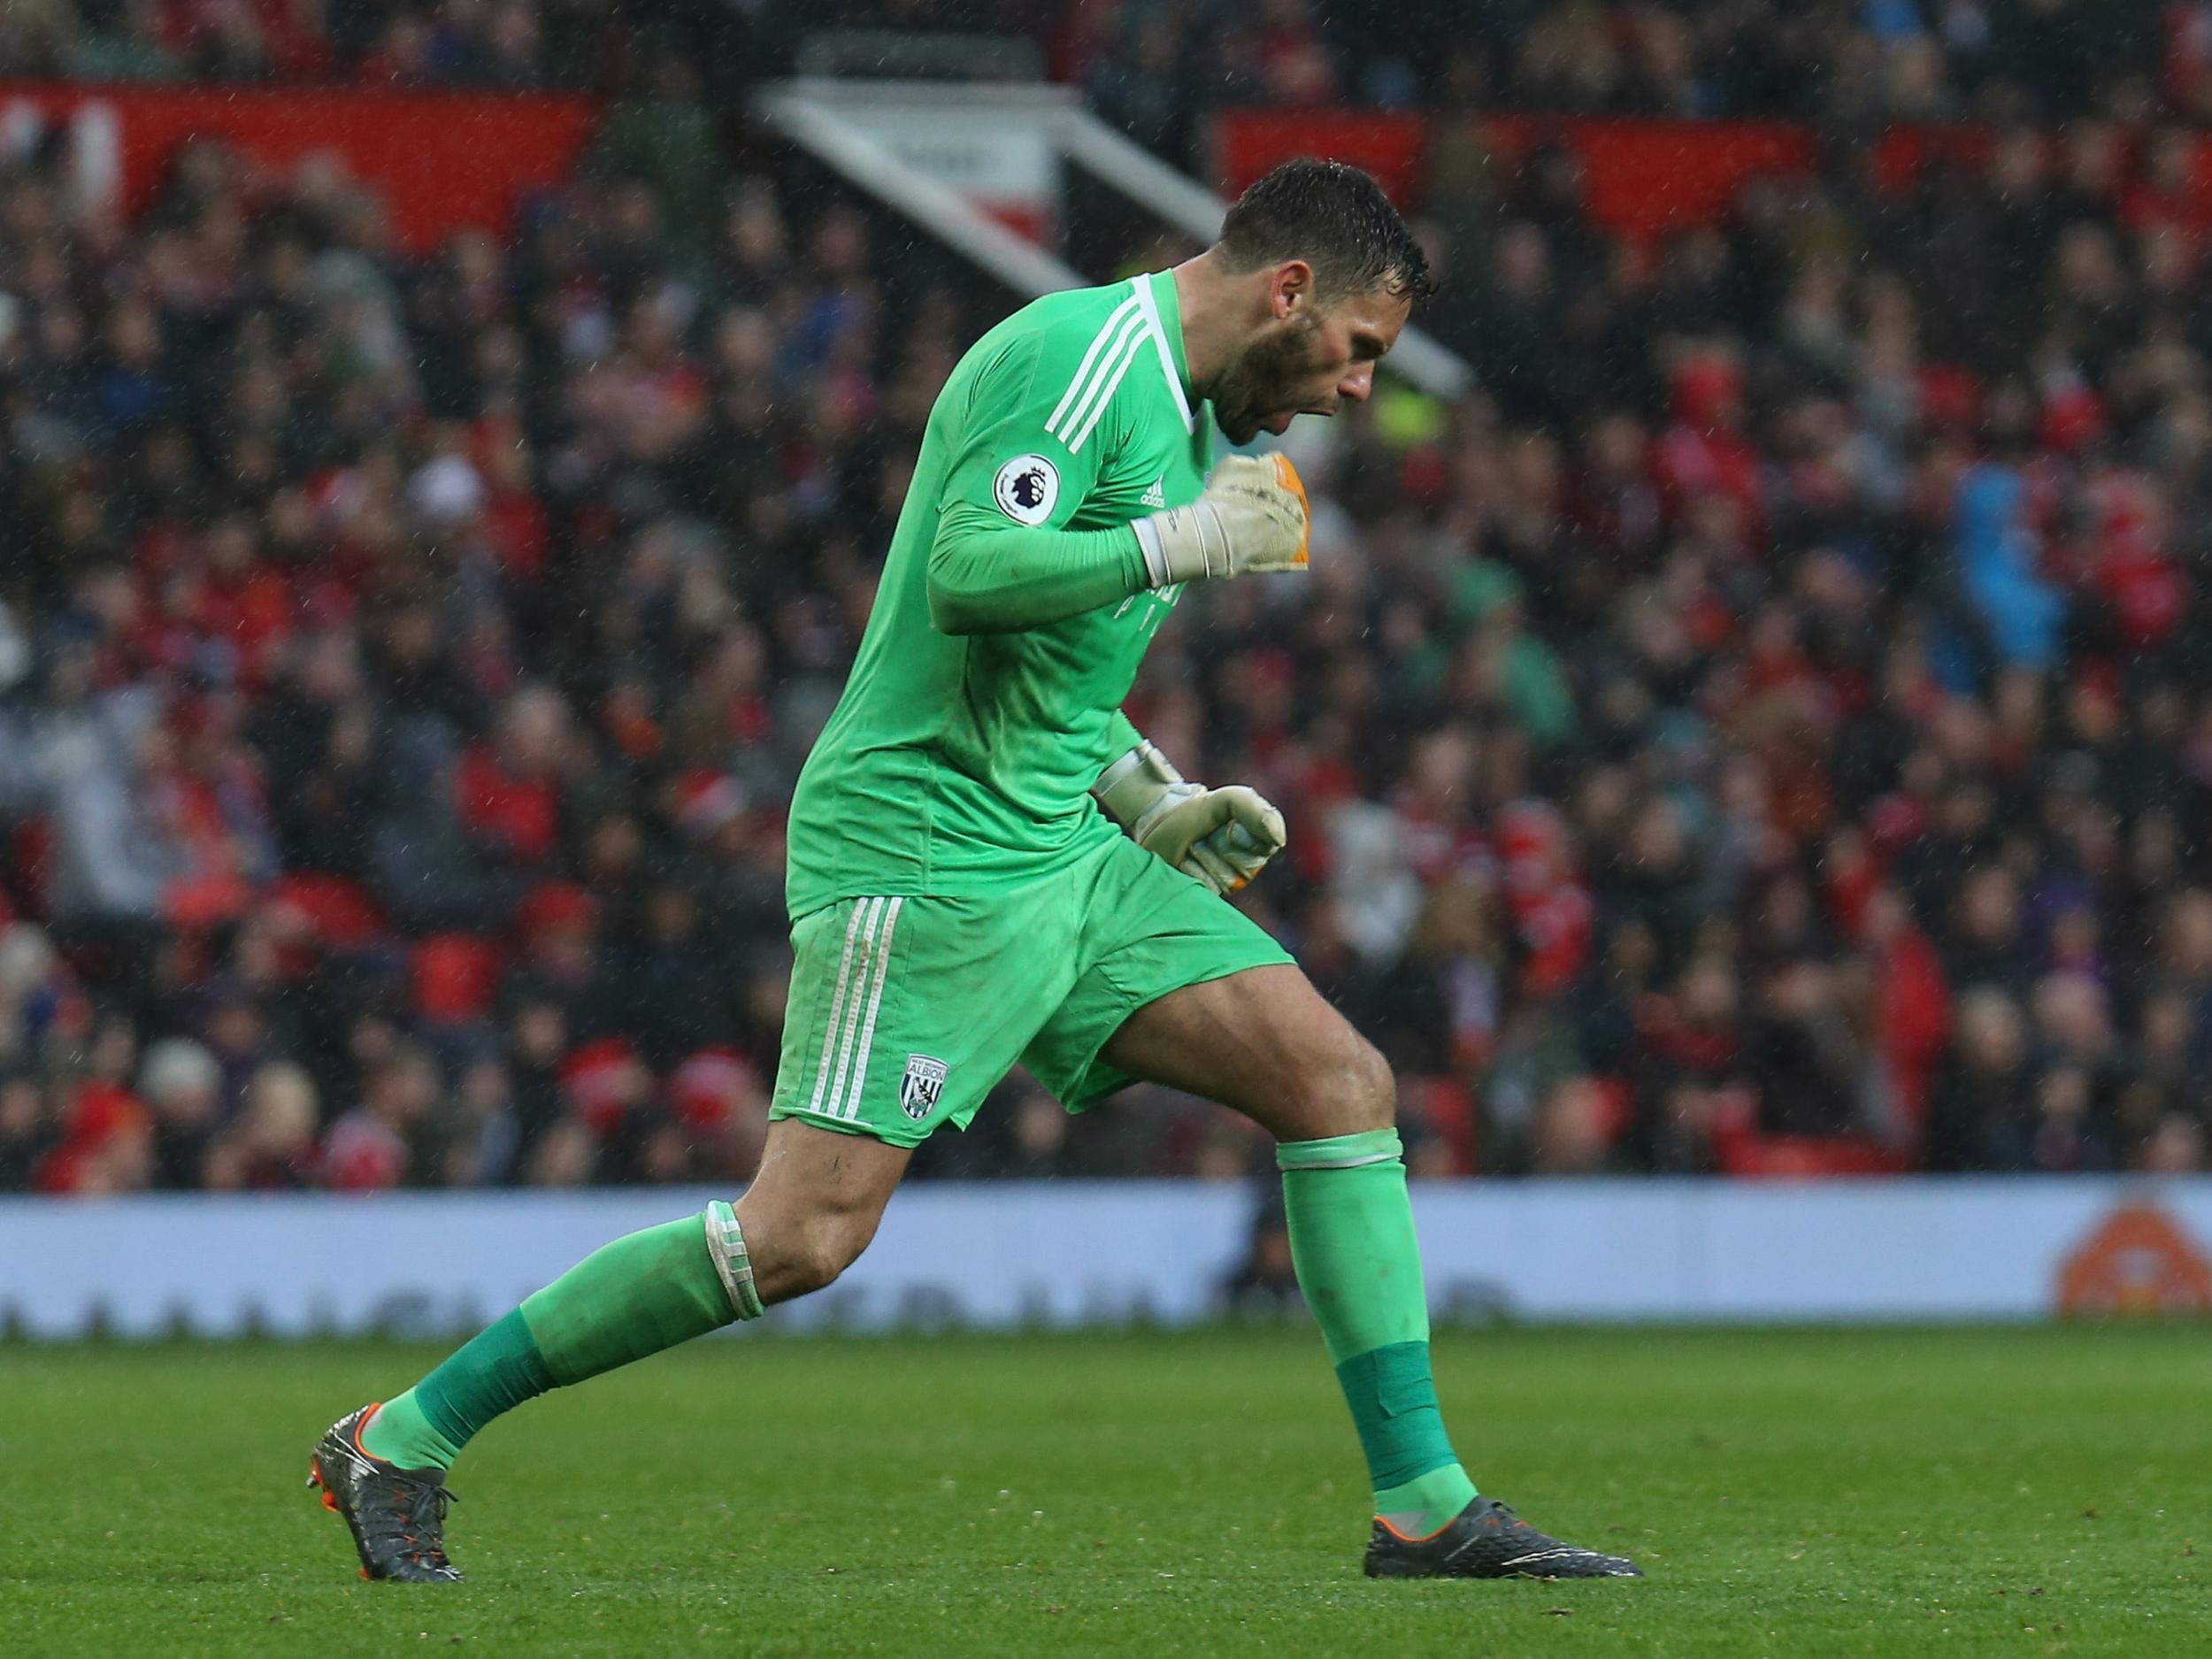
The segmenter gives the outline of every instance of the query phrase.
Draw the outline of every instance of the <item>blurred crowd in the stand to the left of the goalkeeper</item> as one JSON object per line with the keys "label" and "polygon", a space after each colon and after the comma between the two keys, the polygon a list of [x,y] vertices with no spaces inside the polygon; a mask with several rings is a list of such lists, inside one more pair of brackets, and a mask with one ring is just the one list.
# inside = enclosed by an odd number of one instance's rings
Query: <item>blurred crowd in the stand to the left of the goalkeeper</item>
{"label": "blurred crowd in the stand to the left of the goalkeeper", "polygon": [[0,173],[0,1188],[752,1168],[783,799],[989,312],[635,159],[422,259],[327,159]]}

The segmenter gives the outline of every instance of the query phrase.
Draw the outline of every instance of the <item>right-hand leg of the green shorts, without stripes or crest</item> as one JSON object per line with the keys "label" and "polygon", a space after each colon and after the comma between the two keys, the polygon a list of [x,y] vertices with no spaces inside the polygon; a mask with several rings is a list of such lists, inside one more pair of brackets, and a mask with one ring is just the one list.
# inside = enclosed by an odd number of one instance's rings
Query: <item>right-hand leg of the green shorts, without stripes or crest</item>
{"label": "right-hand leg of the green shorts, without stripes or crest", "polygon": [[[1091,891],[1079,967],[1075,984],[1022,1053],[1022,1064],[1068,1110],[1084,1110],[1139,1079],[1190,1088],[1243,1110],[1241,1097],[1221,1093],[1219,1086],[1201,1088],[1164,1075],[1161,1064],[1170,1057],[1155,1055],[1155,1048],[1179,1044],[1119,1037],[1133,1024],[1141,1037],[1152,1024],[1139,1024],[1139,1011],[1179,1002],[1210,987],[1237,987],[1254,978],[1272,982],[1285,975],[1305,987],[1305,975],[1290,951],[1250,916],[1133,841],[1117,843],[1113,860]],[[1307,993],[1314,995],[1312,987]],[[1248,993],[1239,991],[1210,991],[1208,1002],[1223,995],[1248,1000]],[[1318,995],[1314,1002],[1336,1018]],[[1208,1082],[1225,1086],[1228,1079],[1208,1073]]]}

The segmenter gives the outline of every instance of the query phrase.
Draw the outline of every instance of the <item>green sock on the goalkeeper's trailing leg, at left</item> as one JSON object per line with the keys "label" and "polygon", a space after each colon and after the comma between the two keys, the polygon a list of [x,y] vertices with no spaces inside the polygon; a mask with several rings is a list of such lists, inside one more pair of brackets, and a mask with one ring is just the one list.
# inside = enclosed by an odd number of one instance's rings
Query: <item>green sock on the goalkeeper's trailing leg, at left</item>
{"label": "green sock on the goalkeeper's trailing leg, at left", "polygon": [[361,1444],[403,1469],[449,1469],[502,1411],[761,1312],[737,1212],[710,1203],[706,1217],[666,1221],[584,1256],[385,1402]]}

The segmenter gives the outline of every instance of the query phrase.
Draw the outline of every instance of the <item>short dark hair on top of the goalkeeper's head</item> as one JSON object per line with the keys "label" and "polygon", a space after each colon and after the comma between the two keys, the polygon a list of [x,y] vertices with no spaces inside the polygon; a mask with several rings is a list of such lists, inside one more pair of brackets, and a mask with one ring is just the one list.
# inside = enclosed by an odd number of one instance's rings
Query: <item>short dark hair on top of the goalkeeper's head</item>
{"label": "short dark hair on top of the goalkeeper's head", "polygon": [[1221,221],[1221,250],[1234,270],[1303,259],[1325,299],[1371,288],[1405,299],[1436,292],[1429,257],[1398,208],[1374,175],[1347,161],[1283,161],[1237,197]]}

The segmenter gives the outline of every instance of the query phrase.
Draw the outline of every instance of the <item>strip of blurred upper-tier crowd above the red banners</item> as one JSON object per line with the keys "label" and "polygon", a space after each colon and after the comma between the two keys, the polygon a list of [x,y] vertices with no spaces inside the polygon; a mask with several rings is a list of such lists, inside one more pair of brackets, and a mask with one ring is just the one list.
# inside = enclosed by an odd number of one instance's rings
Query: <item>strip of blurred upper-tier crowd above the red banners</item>
{"label": "strip of blurred upper-tier crowd above the red banners", "polygon": [[1858,119],[2212,117],[2212,0],[11,0],[0,77],[728,91],[823,31],[1033,42],[1183,153],[1221,102]]}

